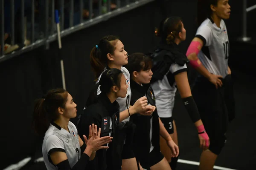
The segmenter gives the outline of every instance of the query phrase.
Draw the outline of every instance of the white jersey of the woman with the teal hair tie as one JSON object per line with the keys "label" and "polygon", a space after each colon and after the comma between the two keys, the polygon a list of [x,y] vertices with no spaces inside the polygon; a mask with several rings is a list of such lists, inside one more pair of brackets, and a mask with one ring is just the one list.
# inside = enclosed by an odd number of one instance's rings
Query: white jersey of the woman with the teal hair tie
{"label": "white jersey of the woman with the teal hair tie", "polygon": [[[104,69],[104,71],[106,71],[107,68]],[[103,72],[104,72],[103,71]],[[120,107],[120,112],[128,109],[130,107],[130,102],[131,102],[131,86],[130,86],[130,73],[129,71],[125,68],[125,67],[121,67],[121,71],[122,73],[125,75],[125,79],[126,79],[126,84],[128,85],[128,90],[127,90],[127,94],[126,94],[126,97],[125,98],[117,98],[116,101],[118,102],[119,104],[119,107]],[[103,73],[102,72],[102,73]],[[102,75],[102,74],[101,74]],[[98,80],[96,83],[99,82],[100,78],[101,78],[101,75],[99,76]],[[98,87],[98,90],[97,90],[97,95],[99,95],[101,93],[101,90],[100,90],[100,86]],[[123,120],[122,122],[127,122],[130,120],[130,117],[126,118],[125,120]]]}

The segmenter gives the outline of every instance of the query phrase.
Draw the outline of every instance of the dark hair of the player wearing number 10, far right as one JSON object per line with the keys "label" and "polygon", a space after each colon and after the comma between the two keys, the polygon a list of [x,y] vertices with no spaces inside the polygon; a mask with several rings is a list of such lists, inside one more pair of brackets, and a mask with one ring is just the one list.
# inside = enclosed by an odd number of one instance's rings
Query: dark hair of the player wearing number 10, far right
{"label": "dark hair of the player wearing number 10, far right", "polygon": [[211,17],[212,9],[211,5],[217,6],[218,0],[198,0],[197,4],[197,23],[198,26],[201,25],[207,17]]}

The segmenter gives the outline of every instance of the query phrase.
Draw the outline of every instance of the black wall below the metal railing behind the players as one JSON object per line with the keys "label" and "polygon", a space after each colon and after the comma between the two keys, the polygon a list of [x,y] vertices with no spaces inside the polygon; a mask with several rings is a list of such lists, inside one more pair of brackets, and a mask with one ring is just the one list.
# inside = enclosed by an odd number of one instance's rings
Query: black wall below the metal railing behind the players
{"label": "black wall below the metal railing behind the players", "polygon": [[[241,4],[242,0],[230,0],[232,12],[227,21],[230,39],[241,35]],[[161,8],[163,6],[165,8]],[[33,104],[35,98],[41,98],[48,89],[62,86],[61,59],[64,60],[66,88],[77,103],[79,114],[94,84],[89,55],[99,39],[116,35],[128,54],[147,52],[157,44],[154,28],[167,14],[183,18],[187,38],[180,46],[186,52],[196,31],[196,0],[156,0],[64,37],[61,51],[58,51],[57,42],[53,42],[49,50],[41,47],[0,63],[1,153],[4,155],[0,169],[31,156],[35,147],[41,150],[41,138],[36,138],[30,128]],[[248,17],[253,20],[251,14]],[[252,24],[248,23],[249,26]],[[249,29],[251,32],[253,29]],[[191,82],[194,75],[193,71],[190,72]],[[76,119],[71,121],[76,122]]]}

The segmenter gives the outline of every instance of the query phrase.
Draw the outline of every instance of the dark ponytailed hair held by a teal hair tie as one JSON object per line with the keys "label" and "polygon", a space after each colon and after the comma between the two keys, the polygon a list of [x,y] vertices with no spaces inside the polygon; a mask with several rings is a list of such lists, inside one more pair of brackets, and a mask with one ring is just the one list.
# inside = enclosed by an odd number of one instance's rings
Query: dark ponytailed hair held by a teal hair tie
{"label": "dark ponytailed hair held by a teal hair tie", "polygon": [[99,40],[97,47],[94,46],[91,50],[90,64],[96,78],[99,78],[99,75],[103,72],[104,68],[108,64],[107,54],[114,54],[117,40],[119,40],[118,37],[113,35],[103,37],[101,40]]}

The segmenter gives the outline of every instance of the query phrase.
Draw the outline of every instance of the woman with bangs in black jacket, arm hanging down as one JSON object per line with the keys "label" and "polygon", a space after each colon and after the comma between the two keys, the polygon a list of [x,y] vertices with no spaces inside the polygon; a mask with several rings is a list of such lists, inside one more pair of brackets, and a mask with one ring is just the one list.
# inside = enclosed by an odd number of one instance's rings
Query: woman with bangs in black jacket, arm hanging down
{"label": "woman with bangs in black jacket, arm hanging down", "polygon": [[[129,56],[128,64],[125,67],[131,75],[131,104],[137,98],[145,96],[148,105],[155,107],[154,91],[149,84],[153,75],[151,58],[143,53],[134,53]],[[147,170],[171,170],[168,161],[160,152],[159,136],[161,135],[165,139],[168,147],[172,150],[172,157],[179,155],[179,149],[163,126],[157,109],[147,117],[140,114],[132,115],[131,121],[136,124],[134,152],[142,167]]]}

